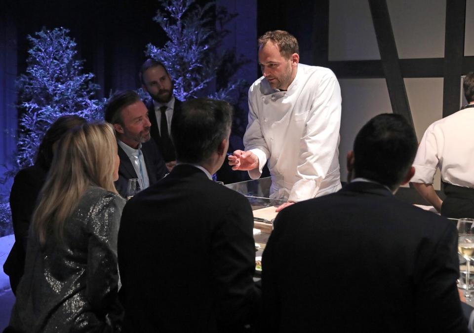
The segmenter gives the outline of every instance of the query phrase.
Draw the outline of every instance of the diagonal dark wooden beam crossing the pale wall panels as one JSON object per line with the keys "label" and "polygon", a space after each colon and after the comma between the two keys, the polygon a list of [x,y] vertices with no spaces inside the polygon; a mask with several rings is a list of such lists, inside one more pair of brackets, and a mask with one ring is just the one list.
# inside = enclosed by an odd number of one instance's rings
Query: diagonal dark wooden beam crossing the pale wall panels
{"label": "diagonal dark wooden beam crossing the pale wall panels", "polygon": [[394,113],[403,115],[413,126],[405,83],[401,74],[394,32],[386,0],[369,0],[370,13],[379,46],[380,59]]}

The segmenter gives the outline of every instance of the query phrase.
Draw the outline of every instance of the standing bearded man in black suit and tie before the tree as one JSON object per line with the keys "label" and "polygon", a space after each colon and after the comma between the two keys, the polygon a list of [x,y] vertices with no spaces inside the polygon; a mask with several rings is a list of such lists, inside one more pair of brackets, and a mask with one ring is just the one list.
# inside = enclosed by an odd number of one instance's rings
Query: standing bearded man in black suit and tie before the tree
{"label": "standing bearded man in black suit and tie before the tree", "polygon": [[173,80],[162,63],[147,59],[139,74],[143,90],[151,97],[146,101],[152,123],[151,135],[171,171],[176,165],[176,152],[170,130],[173,119],[179,116],[181,101],[173,96]]}

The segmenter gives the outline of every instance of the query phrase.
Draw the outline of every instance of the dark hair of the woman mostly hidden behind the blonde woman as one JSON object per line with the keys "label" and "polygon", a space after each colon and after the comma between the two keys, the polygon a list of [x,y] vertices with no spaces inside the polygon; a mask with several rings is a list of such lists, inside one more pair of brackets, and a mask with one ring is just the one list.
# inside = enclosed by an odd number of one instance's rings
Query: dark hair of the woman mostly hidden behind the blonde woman
{"label": "dark hair of the woman mostly hidden behind the blonde woman", "polygon": [[53,145],[70,129],[86,124],[87,120],[75,114],[65,114],[56,119],[41,140],[35,164],[49,170],[53,160]]}

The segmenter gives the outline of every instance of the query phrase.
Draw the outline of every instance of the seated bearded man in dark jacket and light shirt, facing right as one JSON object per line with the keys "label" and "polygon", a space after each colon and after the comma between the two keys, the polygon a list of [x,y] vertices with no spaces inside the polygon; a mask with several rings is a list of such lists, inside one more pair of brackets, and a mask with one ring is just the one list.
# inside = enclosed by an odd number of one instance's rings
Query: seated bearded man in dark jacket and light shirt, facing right
{"label": "seated bearded man in dark jacket and light shirt, facing right", "polygon": [[158,148],[150,140],[148,110],[136,92],[114,94],[107,101],[105,120],[117,134],[120,166],[115,187],[122,197],[127,197],[129,179],[142,179],[146,188],[168,173]]}

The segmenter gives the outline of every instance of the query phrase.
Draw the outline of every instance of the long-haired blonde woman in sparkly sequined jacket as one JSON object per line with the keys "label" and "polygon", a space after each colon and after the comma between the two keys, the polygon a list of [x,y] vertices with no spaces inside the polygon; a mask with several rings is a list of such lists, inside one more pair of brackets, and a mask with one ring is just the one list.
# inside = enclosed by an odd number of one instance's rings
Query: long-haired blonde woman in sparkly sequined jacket
{"label": "long-haired blonde woman in sparkly sequined jacket", "polygon": [[118,164],[108,124],[82,125],[59,141],[5,332],[119,329],[117,233],[125,201],[114,187]]}

